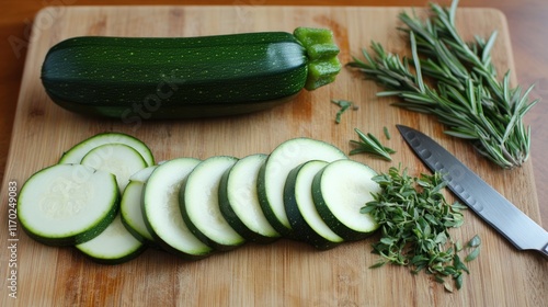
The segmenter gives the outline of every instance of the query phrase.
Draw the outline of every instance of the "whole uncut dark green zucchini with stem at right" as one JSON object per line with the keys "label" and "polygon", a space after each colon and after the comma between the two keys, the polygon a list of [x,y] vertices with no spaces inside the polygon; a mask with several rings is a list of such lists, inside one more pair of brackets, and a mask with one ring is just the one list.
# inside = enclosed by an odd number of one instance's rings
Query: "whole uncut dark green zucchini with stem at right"
{"label": "whole uncut dark green zucchini with stem at right", "polygon": [[202,37],[73,37],[53,46],[42,82],[58,105],[125,122],[265,110],[334,81],[332,32],[298,27]]}

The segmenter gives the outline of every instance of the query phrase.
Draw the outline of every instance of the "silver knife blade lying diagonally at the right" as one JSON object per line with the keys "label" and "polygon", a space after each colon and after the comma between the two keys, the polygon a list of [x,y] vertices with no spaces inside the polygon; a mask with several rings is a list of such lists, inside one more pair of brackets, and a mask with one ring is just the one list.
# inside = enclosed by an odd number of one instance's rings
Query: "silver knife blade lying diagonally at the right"
{"label": "silver knife blade lying diagonally at the right", "polygon": [[447,187],[518,250],[536,250],[548,259],[548,232],[423,133],[397,125],[403,139]]}

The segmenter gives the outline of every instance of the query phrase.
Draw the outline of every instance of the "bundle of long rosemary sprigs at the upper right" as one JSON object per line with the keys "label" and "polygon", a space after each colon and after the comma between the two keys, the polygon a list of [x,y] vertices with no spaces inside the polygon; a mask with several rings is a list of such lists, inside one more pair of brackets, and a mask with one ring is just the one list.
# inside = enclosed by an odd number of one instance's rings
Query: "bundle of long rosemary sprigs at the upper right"
{"label": "bundle of long rosemary sprigs at the upper right", "polygon": [[450,8],[430,4],[430,16],[400,13],[407,25],[412,60],[385,52],[373,42],[374,55],[347,66],[361,70],[386,91],[379,96],[399,96],[395,103],[411,111],[430,113],[448,128],[446,134],[469,139],[475,148],[502,168],[520,167],[529,156],[530,127],[524,115],[538,100],[529,101],[533,87],[511,88],[510,72],[499,80],[491,61],[496,31],[486,41],[465,42],[455,26],[458,0]]}

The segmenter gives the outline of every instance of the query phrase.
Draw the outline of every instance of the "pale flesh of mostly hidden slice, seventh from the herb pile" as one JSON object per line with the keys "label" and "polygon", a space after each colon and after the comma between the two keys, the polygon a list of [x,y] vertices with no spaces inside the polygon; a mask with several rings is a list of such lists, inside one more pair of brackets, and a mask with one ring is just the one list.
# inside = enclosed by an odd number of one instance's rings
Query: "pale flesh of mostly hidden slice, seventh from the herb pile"
{"label": "pale flesh of mostly hidden slice, seventh from the herb pile", "polygon": [[129,178],[129,183],[124,190],[119,203],[122,223],[138,240],[153,242],[155,239],[145,224],[142,217],[142,191],[148,178],[157,166],[142,169]]}

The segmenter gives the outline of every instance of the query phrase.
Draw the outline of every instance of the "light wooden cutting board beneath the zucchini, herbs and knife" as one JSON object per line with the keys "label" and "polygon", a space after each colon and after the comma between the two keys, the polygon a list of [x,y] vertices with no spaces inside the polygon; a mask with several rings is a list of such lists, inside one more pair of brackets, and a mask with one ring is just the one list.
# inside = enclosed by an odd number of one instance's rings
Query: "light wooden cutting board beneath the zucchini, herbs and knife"
{"label": "light wooden cutting board beneath the zucchini, herbs and knife", "polygon": [[[464,287],[447,293],[426,274],[404,268],[368,269],[374,238],[316,251],[289,240],[249,243],[235,251],[187,262],[159,250],[148,250],[128,263],[95,264],[72,248],[53,248],[30,239],[11,225],[8,189],[37,170],[54,164],[64,150],[101,132],[123,132],[146,141],[157,161],[176,157],[205,159],[215,155],[243,157],[271,152],[293,137],[307,136],[334,144],[349,152],[354,128],[383,138],[398,152],[392,162],[353,156],[377,171],[401,163],[412,174],[426,170],[396,130],[396,124],[419,128],[476,170],[510,201],[539,221],[532,164],[503,171],[478,157],[469,144],[449,138],[432,116],[390,106],[377,99],[378,88],[349,70],[335,83],[302,92],[294,102],[251,115],[216,120],[130,123],[91,120],[69,113],[46,96],[39,68],[47,49],[77,35],[194,36],[252,31],[287,31],[296,26],[333,30],[347,62],[370,41],[388,50],[408,53],[396,27],[402,8],[323,7],[72,7],[43,10],[35,20],[18,102],[5,179],[2,184],[1,306],[545,306],[548,266],[532,252],[517,252],[472,213],[452,231],[467,241],[482,239],[479,259],[469,263]],[[489,9],[461,8],[457,15],[463,35],[487,37],[498,30],[493,61],[500,71],[513,68],[504,16]],[[513,82],[516,83],[513,77]],[[330,99],[346,99],[359,109],[334,123],[338,106]],[[5,102],[9,103],[9,102]],[[11,183],[10,183],[11,182]],[[453,198],[448,194],[449,198]],[[16,220],[13,220],[16,221]],[[11,227],[11,228],[10,228]],[[14,231],[11,237],[5,229]],[[15,247],[15,249],[10,249]],[[14,266],[16,265],[16,266]],[[11,266],[11,268],[10,268]],[[12,272],[13,271],[13,272]],[[13,274],[12,274],[13,273]],[[16,282],[13,281],[16,277]],[[11,287],[14,285],[15,287]],[[16,291],[16,298],[9,296]]]}

